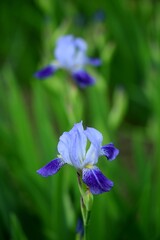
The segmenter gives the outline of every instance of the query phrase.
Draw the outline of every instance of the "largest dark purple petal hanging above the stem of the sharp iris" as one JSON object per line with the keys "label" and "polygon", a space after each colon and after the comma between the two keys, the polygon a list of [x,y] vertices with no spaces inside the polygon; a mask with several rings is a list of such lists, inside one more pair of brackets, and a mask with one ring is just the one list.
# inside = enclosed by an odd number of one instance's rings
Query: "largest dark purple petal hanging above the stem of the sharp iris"
{"label": "largest dark purple petal hanging above the stem of the sharp iris", "polygon": [[82,180],[90,188],[92,194],[108,192],[113,187],[113,182],[106,178],[97,167],[84,168]]}

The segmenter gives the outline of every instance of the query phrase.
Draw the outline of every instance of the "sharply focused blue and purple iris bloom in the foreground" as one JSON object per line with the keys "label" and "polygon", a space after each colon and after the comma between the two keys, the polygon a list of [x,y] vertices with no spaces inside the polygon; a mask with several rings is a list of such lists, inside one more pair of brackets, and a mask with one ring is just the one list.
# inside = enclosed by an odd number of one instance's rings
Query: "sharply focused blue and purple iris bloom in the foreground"
{"label": "sharply focused blue and purple iris bloom in the foreground", "polygon": [[[58,143],[58,158],[37,171],[43,177],[56,174],[65,164],[72,165],[81,172],[83,182],[92,194],[108,192],[113,182],[106,178],[96,166],[100,156],[114,160],[119,154],[113,143],[102,146],[103,136],[95,128],[84,130],[82,122],[77,123],[69,132],[64,132]],[[88,143],[90,144],[87,149]]]}

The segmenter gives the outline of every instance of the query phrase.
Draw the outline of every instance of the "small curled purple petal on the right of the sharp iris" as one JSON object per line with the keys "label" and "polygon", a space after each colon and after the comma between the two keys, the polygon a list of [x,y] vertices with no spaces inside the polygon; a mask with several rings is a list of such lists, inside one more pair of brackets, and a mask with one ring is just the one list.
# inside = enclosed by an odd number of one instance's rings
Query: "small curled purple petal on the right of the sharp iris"
{"label": "small curled purple petal on the right of the sharp iris", "polygon": [[106,156],[108,160],[114,160],[119,154],[119,150],[115,148],[113,143],[109,143],[101,147],[101,154]]}

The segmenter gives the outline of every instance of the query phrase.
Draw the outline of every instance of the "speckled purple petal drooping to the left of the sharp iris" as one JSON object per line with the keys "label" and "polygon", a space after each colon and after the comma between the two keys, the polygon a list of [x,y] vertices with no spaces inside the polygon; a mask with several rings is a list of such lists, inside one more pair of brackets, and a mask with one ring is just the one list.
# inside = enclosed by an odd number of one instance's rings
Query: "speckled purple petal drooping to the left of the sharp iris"
{"label": "speckled purple petal drooping to the left of the sharp iris", "polygon": [[44,167],[37,170],[37,173],[42,175],[43,177],[48,177],[56,174],[64,164],[65,163],[61,158],[56,158],[46,164]]}

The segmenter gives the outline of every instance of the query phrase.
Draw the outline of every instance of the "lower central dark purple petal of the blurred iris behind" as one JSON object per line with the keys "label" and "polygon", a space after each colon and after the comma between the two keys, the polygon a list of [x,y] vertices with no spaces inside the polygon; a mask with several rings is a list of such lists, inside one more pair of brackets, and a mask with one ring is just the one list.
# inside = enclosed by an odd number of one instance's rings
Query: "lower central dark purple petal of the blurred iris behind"
{"label": "lower central dark purple petal of the blurred iris behind", "polygon": [[76,83],[82,88],[86,87],[86,86],[89,86],[89,85],[93,85],[95,83],[94,78],[83,70],[79,70],[77,72],[74,72],[72,74],[72,77],[74,78]]}

